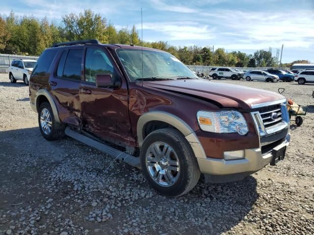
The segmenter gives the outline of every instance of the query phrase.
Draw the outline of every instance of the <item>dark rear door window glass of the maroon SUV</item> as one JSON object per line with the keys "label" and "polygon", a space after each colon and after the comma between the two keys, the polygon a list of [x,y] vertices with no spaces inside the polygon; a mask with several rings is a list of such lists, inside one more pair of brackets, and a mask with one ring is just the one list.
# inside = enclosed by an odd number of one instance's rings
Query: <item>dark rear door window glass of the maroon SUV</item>
{"label": "dark rear door window glass of the maroon SUV", "polygon": [[83,49],[70,49],[66,58],[63,77],[80,80]]}

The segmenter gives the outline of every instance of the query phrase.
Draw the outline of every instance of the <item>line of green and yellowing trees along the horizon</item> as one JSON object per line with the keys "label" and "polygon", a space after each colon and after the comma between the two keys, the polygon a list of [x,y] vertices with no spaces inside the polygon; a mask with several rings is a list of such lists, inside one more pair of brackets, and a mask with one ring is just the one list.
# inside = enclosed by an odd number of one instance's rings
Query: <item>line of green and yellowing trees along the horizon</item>
{"label": "line of green and yellowing trees along the horizon", "polygon": [[[14,12],[8,16],[0,15],[0,53],[38,56],[54,43],[83,39],[98,39],[104,44],[141,45],[135,25],[118,30],[106,18],[95,14],[90,9],[85,9],[79,14],[70,13],[62,16],[61,24],[49,22],[46,17],[41,20],[33,16],[18,17]],[[143,46],[168,51],[186,65],[279,66],[277,59],[272,56],[271,49],[246,54],[241,51],[228,52],[224,48],[217,48],[213,51],[212,47],[175,47],[163,41],[144,41]],[[309,63],[307,60],[302,62]],[[292,63],[283,66],[290,66]]]}

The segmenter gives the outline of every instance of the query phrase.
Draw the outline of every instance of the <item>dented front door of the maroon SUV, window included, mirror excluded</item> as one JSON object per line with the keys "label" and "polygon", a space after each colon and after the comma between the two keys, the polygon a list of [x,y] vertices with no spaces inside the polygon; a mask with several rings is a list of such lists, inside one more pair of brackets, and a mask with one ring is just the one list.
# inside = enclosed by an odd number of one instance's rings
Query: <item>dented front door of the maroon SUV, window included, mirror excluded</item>
{"label": "dented front door of the maroon SUV, window included, mirror excluded", "polygon": [[[83,129],[120,146],[135,144],[128,109],[128,87],[110,53],[103,46],[85,46],[84,81],[79,88]],[[120,88],[99,88],[97,74],[111,74]]]}

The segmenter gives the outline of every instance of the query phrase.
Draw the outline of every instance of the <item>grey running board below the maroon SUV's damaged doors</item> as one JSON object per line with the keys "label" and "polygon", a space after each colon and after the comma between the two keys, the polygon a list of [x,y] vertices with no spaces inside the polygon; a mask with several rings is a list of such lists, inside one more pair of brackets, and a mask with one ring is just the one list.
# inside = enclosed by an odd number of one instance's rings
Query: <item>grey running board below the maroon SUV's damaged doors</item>
{"label": "grey running board below the maroon SUV's damaged doors", "polygon": [[112,148],[108,145],[105,145],[104,143],[101,143],[99,141],[95,141],[87,136],[84,136],[74,130],[72,130],[69,126],[65,128],[65,134],[79,142],[85,143],[88,146],[91,146],[93,148],[98,149],[99,151],[108,154],[110,157],[117,158],[119,160],[122,160],[126,162],[127,164],[140,167],[140,160],[139,157],[134,157],[130,154],[127,154],[125,152],[121,152],[120,150],[117,150],[115,148]]}

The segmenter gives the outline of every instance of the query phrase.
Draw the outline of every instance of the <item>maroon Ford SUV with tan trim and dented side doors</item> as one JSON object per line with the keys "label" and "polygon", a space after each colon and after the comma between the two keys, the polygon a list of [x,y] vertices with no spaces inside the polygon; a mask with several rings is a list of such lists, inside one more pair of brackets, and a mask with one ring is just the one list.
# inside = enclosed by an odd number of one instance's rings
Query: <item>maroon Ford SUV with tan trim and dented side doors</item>
{"label": "maroon Ford SUV with tan trim and dented side doors", "polygon": [[140,167],[166,196],[243,179],[285,157],[280,94],[201,80],[173,55],[84,40],[46,49],[29,83],[42,135],[64,134]]}

